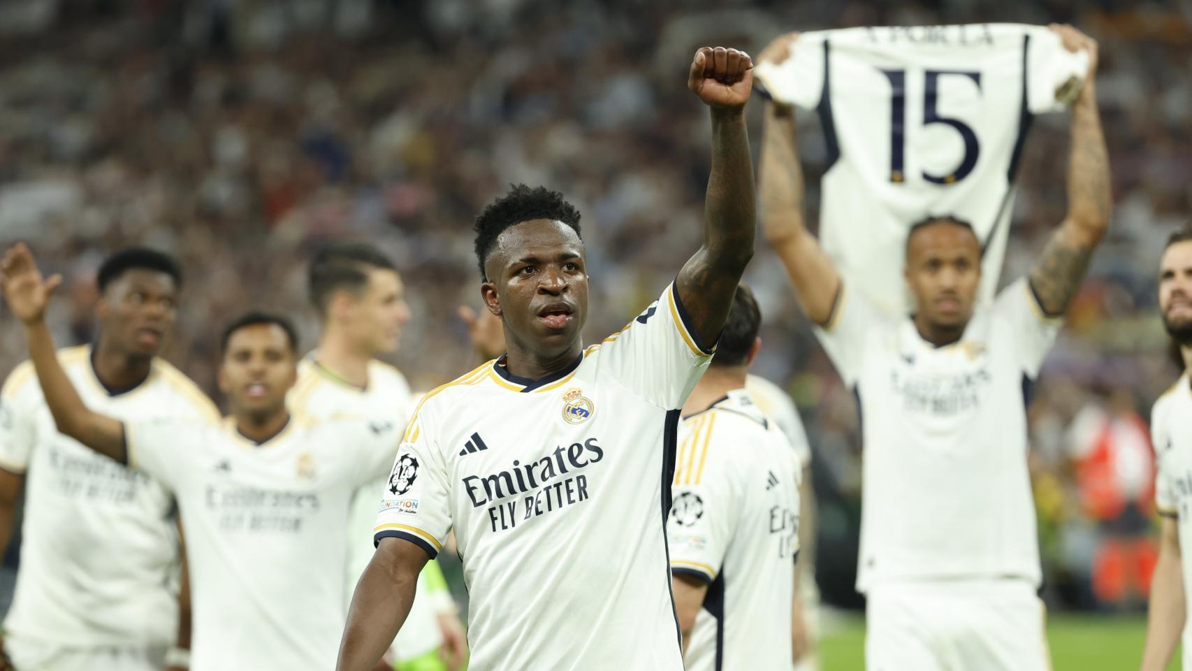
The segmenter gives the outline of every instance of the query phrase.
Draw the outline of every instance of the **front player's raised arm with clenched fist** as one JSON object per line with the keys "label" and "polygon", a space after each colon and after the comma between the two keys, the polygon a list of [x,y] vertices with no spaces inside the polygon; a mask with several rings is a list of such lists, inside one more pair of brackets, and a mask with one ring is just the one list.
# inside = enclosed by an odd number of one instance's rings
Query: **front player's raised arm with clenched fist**
{"label": "front player's raised arm with clenched fist", "polygon": [[753,164],[745,129],[753,61],[744,51],[704,46],[695,52],[687,86],[712,110],[712,175],[703,244],[679,271],[676,288],[700,341],[713,343],[753,256]]}

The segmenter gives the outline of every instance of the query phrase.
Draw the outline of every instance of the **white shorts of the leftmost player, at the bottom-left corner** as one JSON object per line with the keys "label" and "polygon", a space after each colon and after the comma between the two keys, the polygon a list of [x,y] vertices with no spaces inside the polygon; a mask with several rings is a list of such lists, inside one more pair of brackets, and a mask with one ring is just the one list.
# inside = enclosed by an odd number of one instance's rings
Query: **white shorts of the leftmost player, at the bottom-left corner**
{"label": "white shorts of the leftmost player, at the bottom-left corner", "polygon": [[166,648],[66,647],[5,636],[5,652],[18,671],[162,671]]}

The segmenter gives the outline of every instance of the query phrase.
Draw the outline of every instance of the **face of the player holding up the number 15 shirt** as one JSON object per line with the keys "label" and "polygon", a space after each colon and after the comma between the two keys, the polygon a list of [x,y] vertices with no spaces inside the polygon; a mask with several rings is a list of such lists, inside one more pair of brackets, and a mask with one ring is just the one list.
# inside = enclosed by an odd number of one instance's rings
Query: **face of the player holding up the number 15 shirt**
{"label": "face of the player holding up the number 15 shirt", "polygon": [[914,231],[906,249],[906,281],[927,323],[960,328],[973,316],[981,282],[981,247],[973,231],[950,223]]}

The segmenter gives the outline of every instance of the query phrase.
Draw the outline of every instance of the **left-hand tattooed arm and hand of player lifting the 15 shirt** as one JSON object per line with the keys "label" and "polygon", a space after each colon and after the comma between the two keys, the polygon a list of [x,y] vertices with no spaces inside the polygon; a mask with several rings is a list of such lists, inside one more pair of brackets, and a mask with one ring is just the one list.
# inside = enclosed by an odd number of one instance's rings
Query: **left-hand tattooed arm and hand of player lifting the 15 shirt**
{"label": "left-hand tattooed arm and hand of player lifting the 15 shirt", "polygon": [[[771,42],[760,60],[781,63],[790,56],[799,33]],[[807,317],[824,325],[840,291],[840,277],[803,219],[803,170],[795,149],[795,108],[769,101],[762,125],[762,159],[758,195],[762,231],[782,260]]]}

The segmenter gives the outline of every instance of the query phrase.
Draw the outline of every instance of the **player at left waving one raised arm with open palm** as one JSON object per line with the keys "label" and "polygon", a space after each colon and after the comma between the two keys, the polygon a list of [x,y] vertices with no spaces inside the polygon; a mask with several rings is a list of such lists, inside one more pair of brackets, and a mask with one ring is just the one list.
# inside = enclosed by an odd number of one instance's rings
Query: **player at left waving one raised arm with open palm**
{"label": "player at left waving one raised arm with open palm", "polygon": [[223,425],[95,412],[45,325],[61,279],[43,280],[24,244],[5,255],[0,272],[58,430],[178,498],[193,586],[191,669],[330,669],[343,626],[348,505],[384,472],[401,428],[391,418],[291,418],[285,398],[298,374],[297,338],[284,318],[262,313],[224,331],[219,389],[231,418]]}

